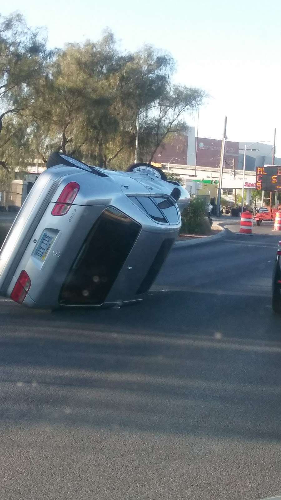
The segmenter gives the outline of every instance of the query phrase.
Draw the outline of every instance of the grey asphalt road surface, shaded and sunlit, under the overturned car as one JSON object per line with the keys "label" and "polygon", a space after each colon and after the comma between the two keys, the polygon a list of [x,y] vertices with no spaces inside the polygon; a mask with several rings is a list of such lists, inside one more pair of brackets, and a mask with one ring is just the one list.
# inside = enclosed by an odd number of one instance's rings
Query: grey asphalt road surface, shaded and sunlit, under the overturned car
{"label": "grey asphalt road surface, shaded and sunlit, under the overturned car", "polygon": [[173,250],[135,306],[0,302],[1,500],[280,494],[279,236],[257,229]]}

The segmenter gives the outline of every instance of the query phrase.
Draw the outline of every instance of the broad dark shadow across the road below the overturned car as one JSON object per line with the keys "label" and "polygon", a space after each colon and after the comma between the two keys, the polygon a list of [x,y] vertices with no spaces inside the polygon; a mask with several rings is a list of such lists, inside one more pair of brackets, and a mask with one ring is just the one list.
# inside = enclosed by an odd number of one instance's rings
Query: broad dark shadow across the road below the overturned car
{"label": "broad dark shadow across the road below the overturned car", "polygon": [[203,292],[153,292],[55,314],[6,304],[0,418],[279,440],[280,319],[266,309],[261,321],[252,296],[242,324],[239,298],[213,294],[204,307]]}

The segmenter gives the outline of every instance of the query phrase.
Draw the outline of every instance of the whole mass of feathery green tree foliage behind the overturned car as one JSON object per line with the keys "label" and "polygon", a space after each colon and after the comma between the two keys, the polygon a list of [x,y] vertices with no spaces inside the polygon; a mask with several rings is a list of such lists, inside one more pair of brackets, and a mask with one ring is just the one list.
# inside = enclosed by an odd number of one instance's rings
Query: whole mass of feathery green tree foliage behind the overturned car
{"label": "whole mass of feathery green tree foliage behind the overturned car", "polygon": [[0,17],[0,165],[44,161],[58,150],[124,169],[134,158],[137,116],[139,160],[151,160],[204,97],[172,84],[174,66],[151,46],[122,52],[111,31],[48,52],[21,15]]}

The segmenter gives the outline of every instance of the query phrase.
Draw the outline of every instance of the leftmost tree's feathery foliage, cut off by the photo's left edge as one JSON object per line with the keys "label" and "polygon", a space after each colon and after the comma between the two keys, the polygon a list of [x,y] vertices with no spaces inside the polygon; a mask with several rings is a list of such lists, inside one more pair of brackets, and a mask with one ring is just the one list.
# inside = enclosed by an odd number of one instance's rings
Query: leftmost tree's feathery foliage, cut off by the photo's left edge
{"label": "leftmost tree's feathery foliage, cut off by the photo's left edge", "polygon": [[0,166],[6,171],[28,157],[27,114],[49,56],[40,31],[20,14],[0,16]]}

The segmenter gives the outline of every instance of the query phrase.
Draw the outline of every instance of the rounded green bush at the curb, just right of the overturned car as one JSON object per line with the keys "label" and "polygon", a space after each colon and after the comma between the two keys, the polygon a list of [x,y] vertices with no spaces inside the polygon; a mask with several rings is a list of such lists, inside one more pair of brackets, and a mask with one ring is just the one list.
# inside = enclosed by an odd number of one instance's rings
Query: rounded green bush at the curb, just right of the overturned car
{"label": "rounded green bush at the curb, just right of the overturned car", "polygon": [[181,232],[189,234],[209,234],[210,224],[205,217],[205,201],[193,198],[189,205],[184,208],[182,214]]}

